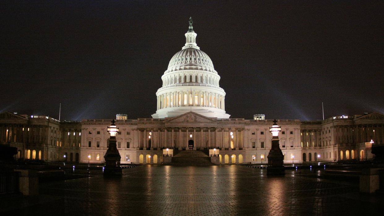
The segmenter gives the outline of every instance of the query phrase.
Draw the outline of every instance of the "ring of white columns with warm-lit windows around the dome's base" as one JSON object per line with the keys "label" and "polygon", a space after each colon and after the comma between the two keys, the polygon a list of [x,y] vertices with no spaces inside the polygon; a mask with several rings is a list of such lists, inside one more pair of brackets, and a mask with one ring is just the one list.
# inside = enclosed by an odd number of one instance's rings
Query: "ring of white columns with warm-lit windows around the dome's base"
{"label": "ring of white columns with warm-lit windows around the dome's base", "polygon": [[225,110],[225,97],[207,91],[190,90],[168,92],[157,96],[157,110],[167,107],[202,106]]}

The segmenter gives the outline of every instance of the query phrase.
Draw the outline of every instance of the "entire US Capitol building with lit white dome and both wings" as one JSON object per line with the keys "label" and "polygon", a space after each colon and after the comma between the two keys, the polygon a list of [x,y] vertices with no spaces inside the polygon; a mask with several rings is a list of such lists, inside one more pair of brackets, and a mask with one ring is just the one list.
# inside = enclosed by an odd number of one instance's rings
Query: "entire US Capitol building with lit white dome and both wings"
{"label": "entire US Capitol building with lit white dome and both wings", "polygon": [[[220,163],[267,163],[272,120],[231,119],[225,91],[209,56],[196,43],[190,19],[186,43],[162,75],[156,113],[149,119],[116,115],[121,163],[161,163],[183,150],[218,155]],[[48,116],[0,114],[0,142],[18,148],[17,158],[103,163],[112,119],[59,121]],[[382,145],[384,115],[372,112],[325,120],[280,119],[284,163],[369,160]],[[214,151],[213,149],[216,149]]]}

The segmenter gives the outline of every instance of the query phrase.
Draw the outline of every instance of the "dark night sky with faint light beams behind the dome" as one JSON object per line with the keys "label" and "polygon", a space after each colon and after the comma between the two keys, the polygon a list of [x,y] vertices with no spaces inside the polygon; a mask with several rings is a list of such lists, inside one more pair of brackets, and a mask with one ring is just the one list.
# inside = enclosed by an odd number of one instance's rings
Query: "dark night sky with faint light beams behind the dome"
{"label": "dark night sky with faint light beams behind the dome", "polygon": [[0,112],[149,118],[192,16],[233,118],[384,113],[382,1],[1,1]]}

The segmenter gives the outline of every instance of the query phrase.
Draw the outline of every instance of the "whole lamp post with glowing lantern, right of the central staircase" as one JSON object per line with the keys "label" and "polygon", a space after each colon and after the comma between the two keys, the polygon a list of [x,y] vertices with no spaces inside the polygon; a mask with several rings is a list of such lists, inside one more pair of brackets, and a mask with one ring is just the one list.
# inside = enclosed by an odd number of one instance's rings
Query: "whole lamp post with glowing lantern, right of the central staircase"
{"label": "whole lamp post with glowing lantern, right of the central staircase", "polygon": [[276,124],[276,119],[273,121],[273,125],[269,128],[269,132],[272,134],[271,150],[268,153],[268,167],[267,175],[284,175],[284,155],[279,147],[279,132],[281,127]]}

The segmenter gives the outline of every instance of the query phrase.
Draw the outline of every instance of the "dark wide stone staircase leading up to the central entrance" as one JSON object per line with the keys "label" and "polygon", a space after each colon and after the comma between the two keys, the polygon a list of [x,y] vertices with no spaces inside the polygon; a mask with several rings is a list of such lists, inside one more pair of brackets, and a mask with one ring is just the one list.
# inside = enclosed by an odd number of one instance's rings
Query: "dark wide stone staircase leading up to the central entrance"
{"label": "dark wide stone staircase leading up to the central entrance", "polygon": [[174,166],[212,166],[210,157],[203,151],[179,151],[172,157],[169,165]]}

